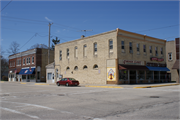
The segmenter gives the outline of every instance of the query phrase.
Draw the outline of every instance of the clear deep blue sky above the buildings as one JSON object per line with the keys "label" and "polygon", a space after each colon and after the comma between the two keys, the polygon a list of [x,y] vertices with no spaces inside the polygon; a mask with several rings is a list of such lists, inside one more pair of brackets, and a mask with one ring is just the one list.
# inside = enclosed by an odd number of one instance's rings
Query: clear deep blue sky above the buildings
{"label": "clear deep blue sky above the buildings", "polygon": [[[1,1],[1,10],[9,1]],[[12,1],[1,12],[2,50],[12,41],[20,52],[48,46],[49,22],[51,39],[61,43],[79,39],[81,30],[91,36],[116,28],[169,41],[179,36],[179,1]]]}

